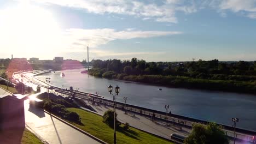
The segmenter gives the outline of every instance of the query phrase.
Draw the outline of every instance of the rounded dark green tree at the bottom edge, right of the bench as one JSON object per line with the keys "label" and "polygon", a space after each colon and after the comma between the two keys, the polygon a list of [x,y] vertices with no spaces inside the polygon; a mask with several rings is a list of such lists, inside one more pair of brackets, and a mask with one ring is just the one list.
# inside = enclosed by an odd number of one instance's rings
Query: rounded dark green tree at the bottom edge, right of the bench
{"label": "rounded dark green tree at the bottom edge, right of the bench", "polygon": [[224,134],[224,131],[216,123],[193,124],[192,131],[185,144],[228,144],[228,137]]}

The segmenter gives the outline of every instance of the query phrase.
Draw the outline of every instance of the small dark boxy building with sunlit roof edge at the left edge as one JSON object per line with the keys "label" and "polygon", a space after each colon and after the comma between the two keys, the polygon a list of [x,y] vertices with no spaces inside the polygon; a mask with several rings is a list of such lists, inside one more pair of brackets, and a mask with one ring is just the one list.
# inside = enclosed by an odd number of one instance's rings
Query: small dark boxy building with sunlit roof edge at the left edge
{"label": "small dark boxy building with sunlit roof edge at the left edge", "polygon": [[26,95],[0,95],[0,129],[25,128]]}

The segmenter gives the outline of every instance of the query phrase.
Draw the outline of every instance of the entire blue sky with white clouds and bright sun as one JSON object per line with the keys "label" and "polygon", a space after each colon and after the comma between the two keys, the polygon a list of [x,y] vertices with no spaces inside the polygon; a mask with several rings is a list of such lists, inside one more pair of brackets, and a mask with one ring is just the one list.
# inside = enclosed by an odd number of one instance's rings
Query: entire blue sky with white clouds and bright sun
{"label": "entire blue sky with white clouds and bright sun", "polygon": [[0,58],[256,61],[256,0],[0,0]]}

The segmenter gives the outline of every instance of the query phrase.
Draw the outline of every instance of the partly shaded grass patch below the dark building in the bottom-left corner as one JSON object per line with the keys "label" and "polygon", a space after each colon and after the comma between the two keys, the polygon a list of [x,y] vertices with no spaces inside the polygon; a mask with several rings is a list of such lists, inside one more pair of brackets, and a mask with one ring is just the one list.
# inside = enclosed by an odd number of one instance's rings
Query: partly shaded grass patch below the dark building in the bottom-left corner
{"label": "partly shaded grass patch below the dark building in the bottom-left corner", "polygon": [[26,128],[0,131],[0,143],[43,144],[36,135]]}

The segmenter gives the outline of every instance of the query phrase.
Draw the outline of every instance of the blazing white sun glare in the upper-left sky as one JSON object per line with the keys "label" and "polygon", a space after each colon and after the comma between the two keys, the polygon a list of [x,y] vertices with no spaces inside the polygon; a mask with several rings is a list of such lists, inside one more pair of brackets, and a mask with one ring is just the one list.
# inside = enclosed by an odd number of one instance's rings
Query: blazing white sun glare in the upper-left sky
{"label": "blazing white sun glare in the upper-left sky", "polygon": [[0,10],[0,32],[0,46],[7,51],[54,52],[61,42],[53,14],[31,4]]}

